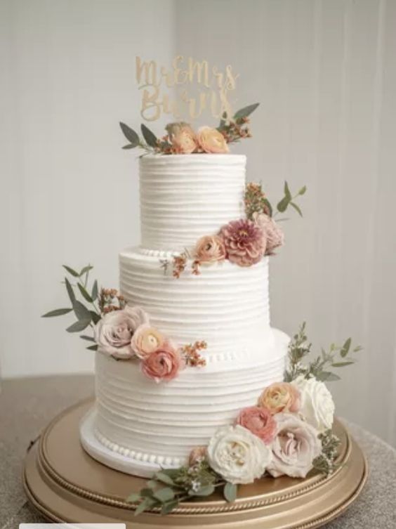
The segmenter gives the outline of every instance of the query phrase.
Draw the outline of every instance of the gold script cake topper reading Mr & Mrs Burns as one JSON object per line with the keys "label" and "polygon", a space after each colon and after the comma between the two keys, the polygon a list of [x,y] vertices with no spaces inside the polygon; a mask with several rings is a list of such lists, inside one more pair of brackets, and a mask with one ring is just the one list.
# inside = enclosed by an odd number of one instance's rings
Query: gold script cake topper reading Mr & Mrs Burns
{"label": "gold script cake topper reading Mr & Mrs Burns", "polygon": [[183,55],[176,55],[171,67],[136,57],[136,81],[142,91],[140,115],[147,122],[163,114],[197,119],[205,111],[216,118],[232,116],[228,95],[235,90],[238,77],[230,65],[221,70],[207,60]]}

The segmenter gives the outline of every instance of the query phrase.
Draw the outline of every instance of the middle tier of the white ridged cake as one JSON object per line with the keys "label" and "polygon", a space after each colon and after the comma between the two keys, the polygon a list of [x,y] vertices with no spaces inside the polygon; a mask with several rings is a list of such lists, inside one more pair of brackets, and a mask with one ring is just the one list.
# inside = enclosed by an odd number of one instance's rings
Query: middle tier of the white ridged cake
{"label": "middle tier of the white ridged cake", "polygon": [[270,351],[268,257],[249,268],[202,266],[200,275],[189,263],[176,279],[171,254],[136,248],[121,252],[119,268],[126,301],[144,308],[152,326],[177,344],[206,341],[208,362]]}

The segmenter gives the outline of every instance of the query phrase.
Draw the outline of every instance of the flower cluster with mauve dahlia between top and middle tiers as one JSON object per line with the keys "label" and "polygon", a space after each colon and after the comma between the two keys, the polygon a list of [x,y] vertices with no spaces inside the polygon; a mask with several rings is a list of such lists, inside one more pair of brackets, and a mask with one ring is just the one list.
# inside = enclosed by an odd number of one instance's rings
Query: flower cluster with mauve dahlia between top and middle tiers
{"label": "flower cluster with mauve dahlia between top and middle tiers", "polygon": [[[291,206],[299,215],[303,215],[296,199],[305,194],[304,185],[296,195],[291,194],[289,184],[284,183],[284,197],[274,209],[263,192],[260,183],[248,183],[244,192],[246,218],[230,221],[220,228],[216,235],[204,235],[195,244],[192,253],[187,249],[173,256],[172,274],[177,279],[189,269],[194,275],[201,273],[202,265],[213,265],[221,261],[230,261],[237,266],[252,266],[263,256],[275,255],[275,250],[284,244],[284,233],[275,221],[278,213],[283,213]],[[286,219],[278,219],[279,221]],[[160,259],[161,267],[166,273],[169,261]]]}

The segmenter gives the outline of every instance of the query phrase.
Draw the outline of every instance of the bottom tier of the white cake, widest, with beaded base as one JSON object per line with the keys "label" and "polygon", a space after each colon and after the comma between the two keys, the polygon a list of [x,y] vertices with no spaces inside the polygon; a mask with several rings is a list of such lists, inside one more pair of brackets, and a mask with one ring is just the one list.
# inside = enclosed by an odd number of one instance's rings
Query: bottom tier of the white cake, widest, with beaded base
{"label": "bottom tier of the white cake, widest, with beaded base", "polygon": [[187,367],[156,384],[136,362],[96,354],[96,401],[81,422],[81,443],[112,468],[151,476],[185,464],[192,448],[207,445],[239,410],[255,405],[265,386],[283,379],[289,337],[276,329],[271,351],[246,360]]}

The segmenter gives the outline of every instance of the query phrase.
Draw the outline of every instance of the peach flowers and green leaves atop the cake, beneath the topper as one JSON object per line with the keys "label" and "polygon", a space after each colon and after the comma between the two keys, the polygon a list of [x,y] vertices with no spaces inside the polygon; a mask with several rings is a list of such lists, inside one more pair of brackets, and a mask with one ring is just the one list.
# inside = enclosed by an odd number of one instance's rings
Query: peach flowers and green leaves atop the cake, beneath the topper
{"label": "peach flowers and green leaves atop the cake, beneath the topper", "polygon": [[[229,143],[242,138],[251,138],[249,116],[259,103],[248,105],[235,112],[232,117],[223,115],[218,127],[202,126],[197,132],[185,122],[171,123],[166,126],[166,135],[157,138],[145,125],[140,125],[142,137],[125,123],[120,123],[121,131],[129,143],[123,149],[143,149],[144,154],[190,155],[195,153],[222,154],[230,151]],[[143,155],[144,155],[143,154]]]}

